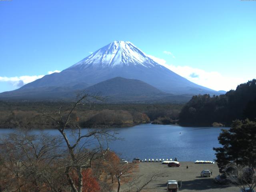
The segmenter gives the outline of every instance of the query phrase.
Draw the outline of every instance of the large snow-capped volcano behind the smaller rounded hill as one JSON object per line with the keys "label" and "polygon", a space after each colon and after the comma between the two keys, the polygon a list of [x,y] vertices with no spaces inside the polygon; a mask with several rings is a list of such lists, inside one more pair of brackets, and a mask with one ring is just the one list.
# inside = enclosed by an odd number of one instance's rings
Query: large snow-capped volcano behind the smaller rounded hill
{"label": "large snow-capped volcano behind the smaller rounded hill", "polygon": [[90,90],[91,86],[116,77],[140,80],[167,94],[220,94],[158,64],[131,42],[114,41],[60,73],[46,75],[17,90],[3,92],[0,97],[60,98],[63,94],[68,97],[75,90]]}

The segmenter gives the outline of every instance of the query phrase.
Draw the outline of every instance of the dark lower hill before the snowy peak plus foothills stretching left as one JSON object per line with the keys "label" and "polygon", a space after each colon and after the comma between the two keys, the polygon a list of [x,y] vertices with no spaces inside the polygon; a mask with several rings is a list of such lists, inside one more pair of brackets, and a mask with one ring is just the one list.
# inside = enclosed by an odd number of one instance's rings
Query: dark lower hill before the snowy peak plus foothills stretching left
{"label": "dark lower hill before the snowy peak plus foothills stretching left", "polygon": [[[76,88],[76,86],[74,87]],[[81,93],[89,93],[90,95],[101,96],[103,101],[107,103],[184,103],[191,99],[191,95],[168,94],[143,81],[126,79],[122,77],[116,77],[97,83],[93,86],[85,88],[84,90],[74,89],[74,87],[34,88],[34,90],[30,91],[20,91],[20,94],[16,94],[15,96],[4,96],[8,94],[8,92],[5,92],[2,93],[2,99],[67,101],[76,100],[77,94]],[[24,94],[26,97],[24,97]]]}

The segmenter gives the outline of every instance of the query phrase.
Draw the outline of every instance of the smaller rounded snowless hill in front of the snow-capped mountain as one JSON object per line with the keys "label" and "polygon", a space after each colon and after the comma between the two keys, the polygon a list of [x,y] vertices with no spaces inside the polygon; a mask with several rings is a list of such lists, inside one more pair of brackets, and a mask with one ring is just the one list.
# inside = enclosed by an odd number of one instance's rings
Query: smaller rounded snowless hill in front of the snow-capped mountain
{"label": "smaller rounded snowless hill in front of the snow-capped mountain", "polygon": [[86,88],[92,94],[106,96],[106,102],[188,102],[191,96],[177,96],[135,79],[115,77]]}

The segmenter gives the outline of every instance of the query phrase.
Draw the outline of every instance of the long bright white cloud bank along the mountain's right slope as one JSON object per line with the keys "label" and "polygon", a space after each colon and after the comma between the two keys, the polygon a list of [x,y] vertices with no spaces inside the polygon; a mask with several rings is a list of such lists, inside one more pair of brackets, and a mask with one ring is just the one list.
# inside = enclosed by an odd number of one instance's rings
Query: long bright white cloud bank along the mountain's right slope
{"label": "long bright white cloud bank along the mountain's right slope", "polygon": [[238,84],[245,83],[249,80],[248,78],[223,76],[220,74],[220,72],[217,71],[208,72],[202,69],[193,68],[191,66],[169,65],[164,59],[151,55],[148,55],[148,57],[152,58],[155,62],[158,62],[176,74],[179,74],[180,76],[190,80],[191,82],[217,91],[228,91],[230,89],[236,89]]}

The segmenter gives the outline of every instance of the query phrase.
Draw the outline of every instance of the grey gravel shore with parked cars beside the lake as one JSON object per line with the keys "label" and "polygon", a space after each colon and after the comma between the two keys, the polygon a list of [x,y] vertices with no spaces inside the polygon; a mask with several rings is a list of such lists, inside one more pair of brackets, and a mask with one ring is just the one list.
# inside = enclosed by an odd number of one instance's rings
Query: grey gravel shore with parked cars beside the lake
{"label": "grey gravel shore with parked cars beside the lake", "polygon": [[[179,191],[202,191],[202,192],[239,192],[240,188],[230,185],[214,184],[213,179],[219,174],[217,164],[195,164],[194,162],[180,162],[180,167],[168,167],[160,162],[143,162],[139,164],[138,174],[145,176],[154,172],[162,172],[163,177],[151,182],[145,190],[147,192],[166,191],[167,180],[182,180],[182,188]],[[186,169],[188,166],[188,169]],[[202,170],[212,170],[210,178],[200,177]],[[121,187],[122,189],[122,187]],[[122,191],[122,190],[121,190]]]}

